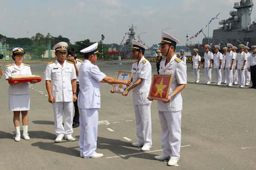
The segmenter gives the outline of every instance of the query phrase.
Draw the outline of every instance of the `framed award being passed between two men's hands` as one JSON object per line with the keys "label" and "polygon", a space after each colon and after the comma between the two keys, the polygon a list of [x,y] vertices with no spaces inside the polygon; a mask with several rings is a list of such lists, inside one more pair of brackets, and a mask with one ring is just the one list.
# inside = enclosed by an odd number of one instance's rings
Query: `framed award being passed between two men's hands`
{"label": "framed award being passed between two men's hands", "polygon": [[[118,80],[132,80],[133,72],[131,71],[118,71],[116,79]],[[124,84],[114,84],[113,88],[114,92],[116,93],[124,93],[127,92],[128,88]]]}

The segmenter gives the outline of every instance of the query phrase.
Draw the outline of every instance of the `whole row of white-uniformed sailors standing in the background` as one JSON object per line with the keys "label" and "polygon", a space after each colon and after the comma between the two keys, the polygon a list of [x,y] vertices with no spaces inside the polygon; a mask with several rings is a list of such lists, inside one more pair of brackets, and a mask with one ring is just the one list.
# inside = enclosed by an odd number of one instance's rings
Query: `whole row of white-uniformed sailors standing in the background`
{"label": "whole row of white-uniformed sailors standing in the background", "polygon": [[[211,67],[212,60],[214,60],[214,71],[216,83],[214,85],[220,85],[225,83],[227,86],[239,84],[237,87],[245,87],[250,85],[250,79],[252,86],[249,88],[255,88],[255,68],[256,67],[256,45],[252,45],[252,52],[250,54],[249,47],[243,44],[239,45],[240,53],[237,54],[237,47],[228,43],[227,47],[224,47],[224,54],[219,52],[220,46],[215,45],[215,54],[209,52],[210,45],[205,45],[204,64],[206,84],[211,83]],[[194,49],[194,56],[192,58],[192,69],[194,72],[194,78],[196,83],[199,83],[199,69],[200,69],[201,57],[198,55],[198,50]]]}

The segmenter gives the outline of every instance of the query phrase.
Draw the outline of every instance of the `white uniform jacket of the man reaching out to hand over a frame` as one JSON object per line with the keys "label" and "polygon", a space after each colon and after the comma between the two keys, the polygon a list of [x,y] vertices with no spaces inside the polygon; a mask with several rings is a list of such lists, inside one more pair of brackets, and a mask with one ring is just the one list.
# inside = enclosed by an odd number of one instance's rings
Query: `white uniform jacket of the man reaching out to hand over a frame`
{"label": "white uniform jacket of the man reaching out to hand over a frame", "polygon": [[78,70],[78,107],[82,109],[100,108],[100,81],[106,77],[99,67],[84,60]]}

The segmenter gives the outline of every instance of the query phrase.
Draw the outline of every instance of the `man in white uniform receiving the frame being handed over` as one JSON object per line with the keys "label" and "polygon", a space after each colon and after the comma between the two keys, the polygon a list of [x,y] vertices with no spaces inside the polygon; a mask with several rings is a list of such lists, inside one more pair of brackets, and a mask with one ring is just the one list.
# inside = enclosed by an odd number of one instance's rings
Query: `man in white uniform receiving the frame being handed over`
{"label": "man in white uniform receiving the frame being handed over", "polygon": [[151,86],[151,64],[144,58],[147,47],[136,40],[132,40],[132,52],[135,61],[132,65],[133,85],[127,89],[123,95],[133,89],[133,104],[136,118],[136,134],[138,142],[132,143],[135,147],[140,147],[141,151],[148,151],[152,147],[151,128],[151,101],[147,99]]}

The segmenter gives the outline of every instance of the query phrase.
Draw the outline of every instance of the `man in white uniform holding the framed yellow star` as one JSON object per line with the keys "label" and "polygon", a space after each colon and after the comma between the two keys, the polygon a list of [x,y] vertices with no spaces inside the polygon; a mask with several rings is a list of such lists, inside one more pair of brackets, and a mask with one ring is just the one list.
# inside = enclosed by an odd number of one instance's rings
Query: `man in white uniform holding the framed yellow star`
{"label": "man in white uniform holding the framed yellow star", "polygon": [[[162,155],[155,159],[165,160],[170,158],[167,165],[176,165],[180,159],[181,145],[181,90],[187,83],[186,64],[178,59],[175,54],[176,44],[180,41],[173,36],[162,33],[161,53],[166,57],[160,63],[159,73],[173,75],[167,100],[158,101],[158,115],[162,128],[161,146]],[[149,100],[152,100],[148,97]]]}

